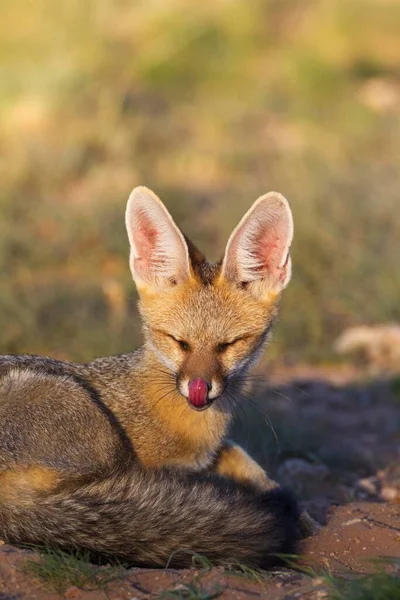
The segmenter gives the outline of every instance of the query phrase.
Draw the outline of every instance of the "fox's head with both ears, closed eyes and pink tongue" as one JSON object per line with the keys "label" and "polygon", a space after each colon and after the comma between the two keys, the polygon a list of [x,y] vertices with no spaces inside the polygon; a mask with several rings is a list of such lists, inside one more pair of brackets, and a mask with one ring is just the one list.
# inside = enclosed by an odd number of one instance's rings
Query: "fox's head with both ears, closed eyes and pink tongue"
{"label": "fox's head with both ears, closed eyes and pink tongue", "polygon": [[266,341],[290,280],[287,200],[277,192],[256,200],[216,264],[145,187],[129,197],[126,226],[147,348],[192,408],[229,398]]}

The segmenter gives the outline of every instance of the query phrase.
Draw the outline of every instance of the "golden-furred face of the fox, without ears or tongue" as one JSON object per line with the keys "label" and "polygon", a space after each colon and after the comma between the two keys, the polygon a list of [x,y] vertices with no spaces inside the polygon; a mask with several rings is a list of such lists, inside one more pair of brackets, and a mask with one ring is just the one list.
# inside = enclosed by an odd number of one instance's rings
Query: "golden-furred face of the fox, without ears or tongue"
{"label": "golden-furred face of the fox, without ears or tongue", "polygon": [[274,292],[262,300],[253,298],[221,278],[219,266],[194,266],[184,285],[141,293],[146,345],[176,375],[183,396],[188,381],[201,377],[212,384],[214,407],[226,408],[224,400],[239,389],[266,340],[278,298]]}

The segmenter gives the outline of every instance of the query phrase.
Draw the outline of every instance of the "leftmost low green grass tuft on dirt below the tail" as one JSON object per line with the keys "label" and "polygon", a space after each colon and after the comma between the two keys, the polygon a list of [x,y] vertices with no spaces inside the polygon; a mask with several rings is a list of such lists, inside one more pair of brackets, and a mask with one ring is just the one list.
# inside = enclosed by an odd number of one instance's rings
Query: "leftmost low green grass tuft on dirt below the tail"
{"label": "leftmost low green grass tuft on dirt below the tail", "polygon": [[59,594],[71,586],[83,590],[106,590],[109,583],[123,573],[118,566],[93,565],[84,554],[73,555],[52,549],[40,552],[37,560],[26,560],[23,571],[38,579],[45,588]]}

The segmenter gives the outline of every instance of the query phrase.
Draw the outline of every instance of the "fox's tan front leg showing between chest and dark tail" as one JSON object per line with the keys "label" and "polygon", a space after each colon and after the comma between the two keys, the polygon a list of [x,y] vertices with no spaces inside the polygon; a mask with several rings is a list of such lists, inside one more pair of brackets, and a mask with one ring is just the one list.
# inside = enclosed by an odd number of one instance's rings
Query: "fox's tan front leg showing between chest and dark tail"
{"label": "fox's tan front leg showing between chest and dark tail", "polygon": [[[279,487],[279,483],[270,479],[264,469],[247,454],[243,448],[231,441],[221,447],[214,471],[240,483],[247,483],[265,491]],[[309,537],[318,533],[321,526],[304,511],[300,515],[300,534]]]}

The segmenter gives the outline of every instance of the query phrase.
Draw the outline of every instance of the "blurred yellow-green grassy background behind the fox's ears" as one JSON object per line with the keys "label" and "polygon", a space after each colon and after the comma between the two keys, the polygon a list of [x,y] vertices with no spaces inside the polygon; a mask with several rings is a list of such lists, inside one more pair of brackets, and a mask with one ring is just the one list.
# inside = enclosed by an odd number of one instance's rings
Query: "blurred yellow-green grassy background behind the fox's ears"
{"label": "blurred yellow-green grassy background behind the fox's ears", "polygon": [[1,351],[139,344],[137,184],[211,258],[261,193],[289,198],[272,360],[400,320],[399,39],[396,0],[3,0]]}

